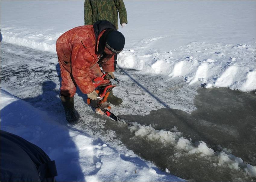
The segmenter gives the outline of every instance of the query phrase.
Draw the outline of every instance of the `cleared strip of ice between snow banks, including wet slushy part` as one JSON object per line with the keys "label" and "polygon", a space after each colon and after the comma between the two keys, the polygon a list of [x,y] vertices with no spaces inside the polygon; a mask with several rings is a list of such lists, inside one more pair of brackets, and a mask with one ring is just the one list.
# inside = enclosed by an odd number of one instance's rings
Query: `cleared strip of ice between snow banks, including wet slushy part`
{"label": "cleared strip of ice between snow banks, including wet slushy part", "polygon": [[[65,124],[56,60],[49,52],[1,43],[1,87]],[[255,180],[247,175],[247,165],[255,165],[255,92],[198,89],[183,79],[133,69],[118,69],[116,76],[124,103],[113,110],[139,129],[93,113],[79,90],[75,105],[81,118],[71,127],[187,180]]]}

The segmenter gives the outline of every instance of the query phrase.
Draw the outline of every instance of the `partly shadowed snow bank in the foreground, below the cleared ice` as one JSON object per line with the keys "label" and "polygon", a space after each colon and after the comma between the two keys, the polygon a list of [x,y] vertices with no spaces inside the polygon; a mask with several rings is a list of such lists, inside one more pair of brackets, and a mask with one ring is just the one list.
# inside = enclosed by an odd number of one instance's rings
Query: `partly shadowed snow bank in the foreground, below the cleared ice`
{"label": "partly shadowed snow bank in the foreground, below the cleared ice", "polygon": [[[41,147],[55,160],[57,181],[181,181],[134,154],[62,125],[1,88],[1,129]],[[132,152],[131,152],[132,153]]]}

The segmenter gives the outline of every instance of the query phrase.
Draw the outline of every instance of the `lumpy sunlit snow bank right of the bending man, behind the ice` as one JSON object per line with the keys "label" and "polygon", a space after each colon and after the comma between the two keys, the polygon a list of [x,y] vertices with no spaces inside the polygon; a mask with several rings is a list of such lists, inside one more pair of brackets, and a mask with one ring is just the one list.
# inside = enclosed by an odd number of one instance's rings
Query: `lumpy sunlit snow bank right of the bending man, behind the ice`
{"label": "lumpy sunlit snow bank right of the bending man, behind the ice", "polygon": [[203,84],[205,88],[255,90],[255,47],[251,45],[191,42],[164,53],[141,54],[141,47],[131,50],[119,54],[118,66],[170,79],[183,77],[188,85]]}

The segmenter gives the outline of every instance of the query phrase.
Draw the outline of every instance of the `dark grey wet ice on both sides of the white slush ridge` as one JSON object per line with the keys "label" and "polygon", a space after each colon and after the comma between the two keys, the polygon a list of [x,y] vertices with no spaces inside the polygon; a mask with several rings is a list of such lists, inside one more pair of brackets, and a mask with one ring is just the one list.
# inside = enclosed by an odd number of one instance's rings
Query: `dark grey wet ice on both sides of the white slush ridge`
{"label": "dark grey wet ice on both sides of the white slush ridge", "polygon": [[[170,130],[174,126],[193,142],[204,141],[214,151],[221,147],[232,155],[255,166],[255,92],[243,93],[227,88],[198,90],[195,105],[198,110],[188,114],[181,110],[160,109],[149,115],[122,115],[129,122],[150,125],[156,130]],[[217,158],[187,155],[172,145],[137,137],[109,121],[106,129],[116,132],[125,146],[163,170],[190,181],[255,181],[241,169],[228,165],[216,166]],[[178,154],[178,155],[177,155]]]}

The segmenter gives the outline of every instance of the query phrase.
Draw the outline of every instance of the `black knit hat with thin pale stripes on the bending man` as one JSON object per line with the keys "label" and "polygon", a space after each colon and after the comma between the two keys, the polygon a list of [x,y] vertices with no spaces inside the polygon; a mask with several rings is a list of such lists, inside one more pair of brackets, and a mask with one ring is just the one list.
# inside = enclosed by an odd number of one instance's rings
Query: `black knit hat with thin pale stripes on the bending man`
{"label": "black knit hat with thin pale stripes on the bending man", "polygon": [[118,31],[110,32],[106,37],[106,46],[114,53],[120,53],[125,47],[125,36]]}

